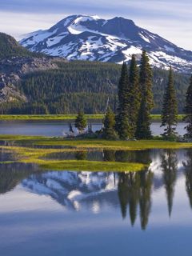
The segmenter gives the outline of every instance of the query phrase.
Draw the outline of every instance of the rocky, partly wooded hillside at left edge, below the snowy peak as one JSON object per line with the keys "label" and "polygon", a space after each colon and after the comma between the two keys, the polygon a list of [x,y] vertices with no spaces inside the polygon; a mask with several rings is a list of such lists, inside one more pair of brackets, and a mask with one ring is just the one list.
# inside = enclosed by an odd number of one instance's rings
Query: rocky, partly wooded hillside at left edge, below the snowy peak
{"label": "rocky, partly wooded hillside at left edge, below the snowy peak", "polygon": [[64,59],[51,58],[30,52],[20,46],[8,34],[0,33],[0,110],[6,109],[6,103],[27,102],[26,96],[17,88],[17,83],[25,74],[39,70],[55,70],[57,62]]}

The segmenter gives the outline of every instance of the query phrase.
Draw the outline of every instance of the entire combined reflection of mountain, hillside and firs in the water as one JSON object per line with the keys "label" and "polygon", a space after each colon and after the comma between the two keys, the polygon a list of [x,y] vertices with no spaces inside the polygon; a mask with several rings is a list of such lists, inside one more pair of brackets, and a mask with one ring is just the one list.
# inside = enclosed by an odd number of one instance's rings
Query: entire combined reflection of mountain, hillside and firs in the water
{"label": "entire combined reflection of mountain, hillside and firs in the water", "polygon": [[[18,182],[35,194],[50,196],[66,210],[101,210],[118,208],[122,218],[134,226],[137,216],[143,230],[150,219],[152,194],[165,190],[167,210],[173,211],[176,181],[186,178],[186,193],[192,206],[192,150],[151,150],[145,154],[133,152],[103,152],[103,161],[138,161],[150,167],[137,173],[73,172],[38,170],[34,165],[19,163],[0,165],[0,193],[12,190]],[[85,155],[78,155],[78,158]],[[100,156],[99,156],[100,157]],[[98,158],[98,156],[97,156]]]}

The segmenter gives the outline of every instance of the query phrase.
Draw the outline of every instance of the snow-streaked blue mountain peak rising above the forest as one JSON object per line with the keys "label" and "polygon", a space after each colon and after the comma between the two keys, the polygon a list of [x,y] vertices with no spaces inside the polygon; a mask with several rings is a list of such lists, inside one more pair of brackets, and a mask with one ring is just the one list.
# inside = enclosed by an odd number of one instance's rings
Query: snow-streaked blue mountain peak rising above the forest
{"label": "snow-streaked blue mountain peak rising above the forest", "polygon": [[153,66],[173,66],[186,72],[192,69],[192,51],[179,48],[121,17],[105,20],[73,15],[49,30],[38,30],[24,37],[20,43],[29,50],[68,60],[122,63],[129,62],[132,54],[139,59],[145,49]]}

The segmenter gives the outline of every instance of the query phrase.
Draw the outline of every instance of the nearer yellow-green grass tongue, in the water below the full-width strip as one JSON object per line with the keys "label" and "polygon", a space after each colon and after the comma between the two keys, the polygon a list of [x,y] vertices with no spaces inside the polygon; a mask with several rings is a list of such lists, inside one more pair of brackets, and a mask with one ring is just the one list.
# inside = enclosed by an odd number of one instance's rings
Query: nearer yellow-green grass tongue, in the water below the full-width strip
{"label": "nearer yellow-green grass tongue, in the water below the full-width strip", "polygon": [[[28,147],[18,146],[1,146],[3,149],[11,150],[18,155],[18,160],[15,162],[38,164],[42,169],[47,170],[87,170],[87,171],[139,171],[145,168],[146,165],[142,163],[133,162],[97,162],[97,161],[79,161],[79,160],[44,160],[43,156],[51,153],[69,152],[78,150],[54,150],[54,149],[33,149]],[[0,163],[10,163],[0,162]]]}

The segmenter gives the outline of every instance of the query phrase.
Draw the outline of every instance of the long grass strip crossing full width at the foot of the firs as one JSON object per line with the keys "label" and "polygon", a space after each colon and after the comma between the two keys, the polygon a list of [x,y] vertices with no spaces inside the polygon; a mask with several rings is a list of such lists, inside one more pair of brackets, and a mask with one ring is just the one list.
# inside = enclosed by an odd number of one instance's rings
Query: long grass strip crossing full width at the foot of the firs
{"label": "long grass strip crossing full width at the foot of the firs", "polygon": [[0,135],[2,141],[14,141],[18,145],[66,146],[74,149],[109,150],[148,150],[148,149],[184,149],[192,148],[188,142],[168,142],[163,140],[107,141],[102,139],[65,139],[37,136]]}

